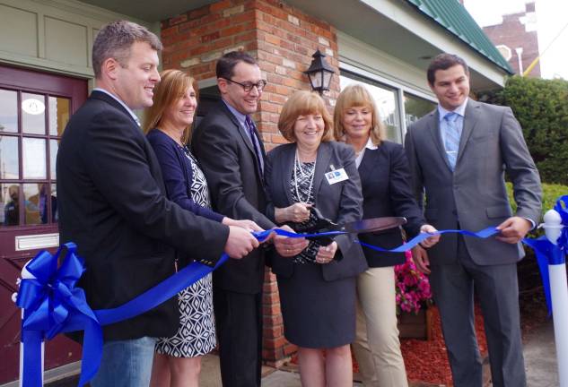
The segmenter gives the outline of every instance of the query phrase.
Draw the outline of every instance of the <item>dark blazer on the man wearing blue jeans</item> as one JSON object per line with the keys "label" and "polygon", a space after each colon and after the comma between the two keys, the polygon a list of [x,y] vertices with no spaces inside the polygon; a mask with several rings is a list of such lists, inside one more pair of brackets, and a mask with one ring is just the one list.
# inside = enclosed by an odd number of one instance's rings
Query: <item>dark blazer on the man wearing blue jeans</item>
{"label": "dark blazer on the man wearing blue jeans", "polygon": [[[69,120],[57,154],[61,243],[86,264],[79,285],[92,309],[126,303],[174,273],[176,250],[201,262],[221,254],[229,229],[165,196],[162,171],[132,116],[93,91]],[[105,340],[168,336],[179,325],[176,297],[103,327]]]}

